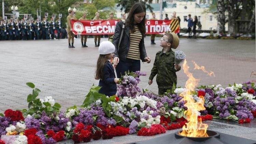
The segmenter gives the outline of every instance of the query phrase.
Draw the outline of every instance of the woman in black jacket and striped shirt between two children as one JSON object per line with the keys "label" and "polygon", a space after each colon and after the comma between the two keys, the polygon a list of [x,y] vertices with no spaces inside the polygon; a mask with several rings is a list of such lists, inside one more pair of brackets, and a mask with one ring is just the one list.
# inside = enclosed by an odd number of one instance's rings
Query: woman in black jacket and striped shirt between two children
{"label": "woman in black jacket and striped shirt between two children", "polygon": [[140,60],[150,63],[150,57],[146,54],[144,45],[146,8],[142,3],[135,3],[125,21],[122,41],[118,47],[123,22],[118,21],[113,44],[115,45],[114,67],[117,77],[124,75],[126,71],[140,71]]}

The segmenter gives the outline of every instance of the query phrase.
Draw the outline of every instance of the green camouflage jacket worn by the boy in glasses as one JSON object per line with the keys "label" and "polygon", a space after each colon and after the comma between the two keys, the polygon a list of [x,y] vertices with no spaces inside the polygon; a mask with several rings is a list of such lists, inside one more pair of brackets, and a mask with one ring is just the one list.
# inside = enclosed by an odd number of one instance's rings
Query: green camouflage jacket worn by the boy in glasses
{"label": "green camouflage jacket worn by the boy in glasses", "polygon": [[176,71],[181,69],[174,69],[174,59],[175,55],[171,49],[166,53],[163,53],[163,49],[156,53],[156,59],[149,79],[153,80],[157,74],[156,83],[158,88],[171,89],[173,83],[177,84]]}

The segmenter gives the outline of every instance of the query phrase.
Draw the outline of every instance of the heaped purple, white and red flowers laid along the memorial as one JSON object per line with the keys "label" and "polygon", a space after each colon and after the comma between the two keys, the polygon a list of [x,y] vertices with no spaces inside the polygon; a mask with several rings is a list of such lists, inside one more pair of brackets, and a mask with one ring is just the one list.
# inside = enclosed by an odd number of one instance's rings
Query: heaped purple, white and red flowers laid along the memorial
{"label": "heaped purple, white and red flowers laid along the memorial", "polygon": [[[186,89],[174,86],[161,96],[147,90],[136,95],[141,91],[137,86],[138,76],[144,75],[128,72],[122,76],[118,85],[118,94],[122,97],[105,96],[98,93],[100,87],[92,86],[82,108],[74,105],[65,111],[60,111],[60,104],[52,97],[37,98],[41,91],[27,83],[33,89],[27,98],[28,109],[6,110],[0,114],[0,135],[17,135],[12,139],[15,144],[53,144],[67,139],[80,143],[128,133],[149,136],[186,126],[187,107],[180,96]],[[198,112],[198,119],[219,118],[243,124],[250,123],[256,116],[255,90],[251,82],[227,88],[200,86],[191,91],[191,97],[195,102],[204,97],[206,109]],[[2,136],[2,140],[9,141],[3,137],[6,136]]]}

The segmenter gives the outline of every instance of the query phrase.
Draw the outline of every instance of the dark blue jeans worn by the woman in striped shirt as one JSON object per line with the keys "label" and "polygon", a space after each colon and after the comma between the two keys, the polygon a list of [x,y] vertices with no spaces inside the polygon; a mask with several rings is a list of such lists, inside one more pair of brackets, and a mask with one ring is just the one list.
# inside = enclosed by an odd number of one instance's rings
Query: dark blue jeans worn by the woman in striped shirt
{"label": "dark blue jeans worn by the woman in striped shirt", "polygon": [[116,66],[117,78],[120,78],[121,74],[125,75],[125,72],[128,70],[130,72],[140,71],[140,60],[129,59],[129,58],[127,58],[125,61],[120,60]]}

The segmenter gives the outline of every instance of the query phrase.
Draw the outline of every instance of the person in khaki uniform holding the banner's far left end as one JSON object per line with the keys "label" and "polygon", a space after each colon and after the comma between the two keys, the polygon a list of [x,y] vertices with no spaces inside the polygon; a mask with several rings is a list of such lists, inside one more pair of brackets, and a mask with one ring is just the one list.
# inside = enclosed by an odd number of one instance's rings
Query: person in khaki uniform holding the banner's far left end
{"label": "person in khaki uniform holding the banner's far left end", "polygon": [[[68,23],[68,35],[69,35],[69,48],[75,48],[74,47],[74,33],[72,32],[71,28],[71,19],[76,19],[74,16],[74,11],[73,9],[69,10],[69,15],[67,16],[67,23]],[[70,40],[72,39],[72,46],[70,45]]]}

